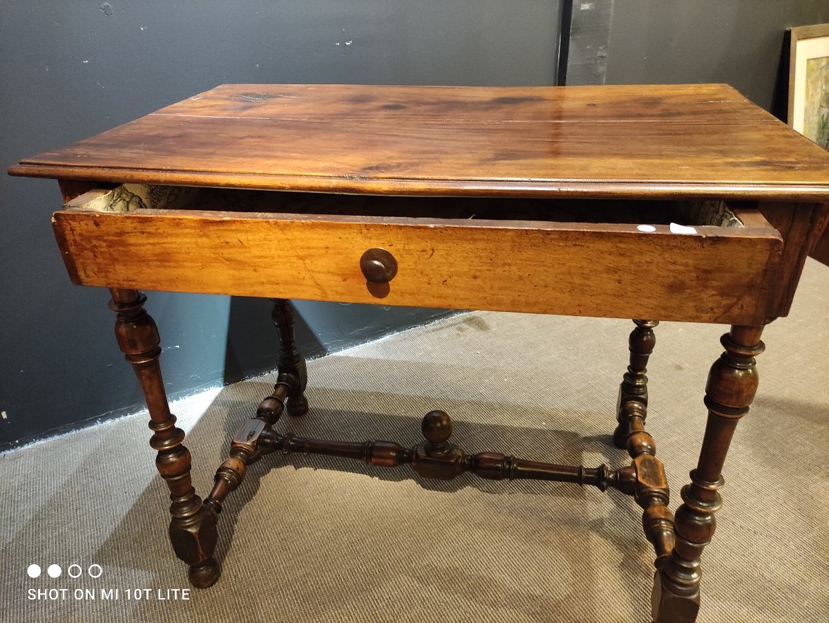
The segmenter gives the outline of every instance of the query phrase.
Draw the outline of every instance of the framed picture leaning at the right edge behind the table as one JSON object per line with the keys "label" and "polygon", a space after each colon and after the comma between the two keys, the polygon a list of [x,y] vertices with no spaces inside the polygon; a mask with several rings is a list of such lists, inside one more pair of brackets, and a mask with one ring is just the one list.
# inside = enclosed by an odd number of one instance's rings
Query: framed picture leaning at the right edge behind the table
{"label": "framed picture leaning at the right edge behind the table", "polygon": [[788,124],[829,149],[829,24],[790,32]]}

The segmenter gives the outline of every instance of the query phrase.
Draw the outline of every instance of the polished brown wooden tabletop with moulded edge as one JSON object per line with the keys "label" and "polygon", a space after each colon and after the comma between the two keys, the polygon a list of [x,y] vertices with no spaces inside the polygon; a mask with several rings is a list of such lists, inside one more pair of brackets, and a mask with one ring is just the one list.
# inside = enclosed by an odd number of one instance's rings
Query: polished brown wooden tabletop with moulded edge
{"label": "polished brown wooden tabletop with moulded edge", "polygon": [[829,202],[829,153],[728,85],[221,85],[9,173],[378,194]]}

